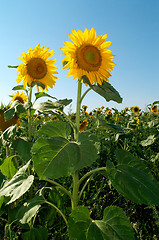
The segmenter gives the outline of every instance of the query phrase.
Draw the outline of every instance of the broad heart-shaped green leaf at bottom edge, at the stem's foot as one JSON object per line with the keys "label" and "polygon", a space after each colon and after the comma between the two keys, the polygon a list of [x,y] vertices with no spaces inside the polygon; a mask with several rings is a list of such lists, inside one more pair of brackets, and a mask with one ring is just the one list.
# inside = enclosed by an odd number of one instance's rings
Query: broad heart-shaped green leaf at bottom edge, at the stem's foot
{"label": "broad heart-shaped green leaf at bottom edge, at the stem's foot", "polygon": [[125,212],[116,206],[105,208],[102,220],[92,220],[86,207],[76,207],[68,226],[70,240],[134,240]]}

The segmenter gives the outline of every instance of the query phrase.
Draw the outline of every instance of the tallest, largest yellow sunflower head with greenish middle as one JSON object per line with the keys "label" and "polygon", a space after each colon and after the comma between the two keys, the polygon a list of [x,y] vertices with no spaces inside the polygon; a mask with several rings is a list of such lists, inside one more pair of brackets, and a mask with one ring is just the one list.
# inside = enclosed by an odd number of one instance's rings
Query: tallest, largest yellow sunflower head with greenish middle
{"label": "tallest, largest yellow sunflower head with greenish middle", "polygon": [[86,76],[90,84],[100,84],[108,81],[114,69],[114,55],[107,48],[111,45],[110,41],[105,42],[107,35],[96,36],[94,28],[85,29],[84,33],[80,30],[72,30],[69,38],[73,43],[64,41],[65,46],[61,48],[62,54],[66,55],[62,60],[63,67],[69,68],[68,77],[80,79]]}

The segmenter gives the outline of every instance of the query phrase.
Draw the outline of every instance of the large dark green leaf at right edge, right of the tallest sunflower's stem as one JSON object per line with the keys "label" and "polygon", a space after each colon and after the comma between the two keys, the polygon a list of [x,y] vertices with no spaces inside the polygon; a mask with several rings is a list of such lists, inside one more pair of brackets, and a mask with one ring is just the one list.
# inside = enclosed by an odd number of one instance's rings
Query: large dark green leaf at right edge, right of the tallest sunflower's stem
{"label": "large dark green leaf at right edge, right of the tallest sunflower's stem", "polygon": [[143,161],[125,150],[116,150],[117,166],[107,162],[107,174],[116,190],[138,204],[159,206],[159,184]]}

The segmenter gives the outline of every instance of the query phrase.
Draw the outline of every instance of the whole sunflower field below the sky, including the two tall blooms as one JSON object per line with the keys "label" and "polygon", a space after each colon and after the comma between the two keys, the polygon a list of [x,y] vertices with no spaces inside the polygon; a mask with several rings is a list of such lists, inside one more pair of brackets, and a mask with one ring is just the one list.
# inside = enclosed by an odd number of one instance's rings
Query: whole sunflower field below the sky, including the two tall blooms
{"label": "whole sunflower field below the sky, including the two tall blooms", "polygon": [[[76,112],[65,111],[72,99],[48,94],[58,79],[53,50],[38,44],[9,66],[18,85],[0,106],[0,239],[157,240],[159,101],[108,108],[122,102],[108,82],[111,42],[93,28],[69,37],[62,63],[78,79]],[[88,112],[89,91],[105,106]]]}

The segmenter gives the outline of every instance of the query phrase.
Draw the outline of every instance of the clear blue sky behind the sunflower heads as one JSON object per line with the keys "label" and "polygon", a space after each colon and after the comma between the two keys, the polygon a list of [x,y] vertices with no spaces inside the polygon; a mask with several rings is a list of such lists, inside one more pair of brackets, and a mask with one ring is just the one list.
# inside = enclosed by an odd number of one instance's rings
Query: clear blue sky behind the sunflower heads
{"label": "clear blue sky behind the sunflower heads", "polygon": [[[123,103],[106,102],[90,91],[83,104],[89,110],[147,104],[159,100],[159,1],[158,0],[27,0],[0,1],[0,103],[8,104],[16,83],[16,69],[22,52],[41,46],[54,49],[58,77],[48,94],[72,98],[75,110],[77,80],[62,70],[63,41],[72,29],[94,27],[107,34],[116,66],[109,82],[123,97]],[[85,90],[85,87],[84,89]],[[43,98],[42,100],[47,100]]]}

